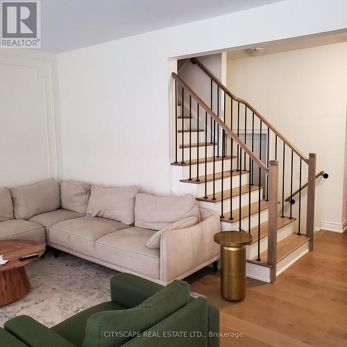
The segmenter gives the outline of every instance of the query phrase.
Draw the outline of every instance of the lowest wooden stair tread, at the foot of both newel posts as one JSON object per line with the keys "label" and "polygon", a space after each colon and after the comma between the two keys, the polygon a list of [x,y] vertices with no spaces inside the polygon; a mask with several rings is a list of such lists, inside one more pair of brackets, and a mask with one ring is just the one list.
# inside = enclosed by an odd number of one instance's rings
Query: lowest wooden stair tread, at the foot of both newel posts
{"label": "lowest wooden stair tread, at the foot of both newel posts", "polygon": [[[282,241],[278,242],[277,244],[276,262],[280,262],[282,259],[287,257],[287,255],[294,252],[296,249],[298,249],[300,246],[302,246],[303,244],[305,244],[305,242],[308,242],[309,240],[310,237],[307,237],[306,235],[298,235],[296,233],[293,233],[287,236],[285,239],[282,239]],[[260,259],[261,260],[257,262],[257,257],[254,257],[251,260],[247,260],[247,262],[269,267],[269,264],[267,263],[267,250],[260,253]]]}

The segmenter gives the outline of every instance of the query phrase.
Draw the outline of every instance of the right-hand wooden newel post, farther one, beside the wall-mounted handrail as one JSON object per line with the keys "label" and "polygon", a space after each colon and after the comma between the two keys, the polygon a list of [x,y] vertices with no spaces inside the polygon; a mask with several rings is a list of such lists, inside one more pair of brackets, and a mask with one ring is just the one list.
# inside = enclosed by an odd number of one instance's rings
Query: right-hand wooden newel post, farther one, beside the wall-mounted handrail
{"label": "right-hand wooden newel post, farther one, beside the wall-mounted handrail", "polygon": [[306,236],[310,237],[309,250],[313,251],[314,234],[314,193],[316,191],[316,153],[309,154],[307,183]]}

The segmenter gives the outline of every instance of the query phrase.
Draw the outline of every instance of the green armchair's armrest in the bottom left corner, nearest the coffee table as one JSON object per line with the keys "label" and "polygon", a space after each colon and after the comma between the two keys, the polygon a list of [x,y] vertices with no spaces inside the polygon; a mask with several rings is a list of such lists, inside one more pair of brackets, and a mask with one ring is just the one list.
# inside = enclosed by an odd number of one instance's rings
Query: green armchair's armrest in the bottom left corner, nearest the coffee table
{"label": "green armchair's armrest in the bottom left corner, nearest the coffee table", "polygon": [[4,328],[31,347],[76,347],[52,329],[29,316],[17,316],[7,321]]}

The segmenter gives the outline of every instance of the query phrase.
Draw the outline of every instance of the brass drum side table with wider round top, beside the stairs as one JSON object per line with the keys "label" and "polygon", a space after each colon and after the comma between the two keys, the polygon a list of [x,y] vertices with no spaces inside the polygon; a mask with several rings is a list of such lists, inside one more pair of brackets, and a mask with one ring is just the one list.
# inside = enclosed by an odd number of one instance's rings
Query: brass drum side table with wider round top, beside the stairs
{"label": "brass drum side table with wider round top, beside the stairs", "polygon": [[246,287],[246,244],[252,236],[240,231],[222,231],[214,235],[221,245],[221,296],[228,301],[242,301]]}

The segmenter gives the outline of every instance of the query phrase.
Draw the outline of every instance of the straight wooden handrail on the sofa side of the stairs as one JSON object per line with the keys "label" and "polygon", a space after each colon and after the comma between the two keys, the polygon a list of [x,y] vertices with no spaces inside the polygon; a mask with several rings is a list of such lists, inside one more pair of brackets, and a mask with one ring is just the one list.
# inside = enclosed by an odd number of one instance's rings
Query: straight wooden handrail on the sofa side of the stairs
{"label": "straight wooden handrail on the sofa side of the stairs", "polygon": [[235,141],[239,144],[239,146],[242,147],[242,149],[244,149],[244,151],[254,160],[255,164],[257,164],[259,167],[262,167],[262,169],[264,169],[264,171],[266,171],[267,174],[269,174],[269,168],[266,167],[266,165],[264,164],[264,162],[262,162],[262,160],[260,160],[257,155],[255,155],[253,153],[253,151],[246,145],[244,144],[244,142],[242,142],[242,140],[208,107],[208,105],[206,105],[199,97],[197,94],[195,94],[193,92],[193,90],[185,83],[183,82],[183,80],[180,79],[180,77],[178,77],[178,75],[173,72],[171,74],[171,76],[178,82],[180,83],[180,85],[183,85],[185,87],[185,89],[189,92],[190,95],[192,95],[192,98],[199,104],[201,105],[201,107],[208,112],[208,114],[214,119],[214,121],[217,121],[217,123],[219,124],[219,126],[221,126],[221,128],[223,130],[226,131],[226,133],[228,135],[230,135],[232,137],[232,139],[235,139]]}

